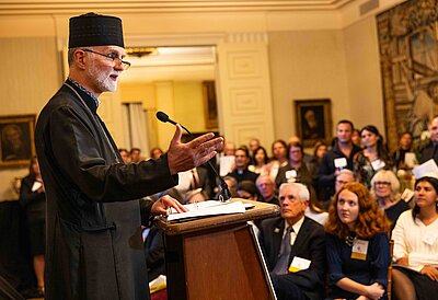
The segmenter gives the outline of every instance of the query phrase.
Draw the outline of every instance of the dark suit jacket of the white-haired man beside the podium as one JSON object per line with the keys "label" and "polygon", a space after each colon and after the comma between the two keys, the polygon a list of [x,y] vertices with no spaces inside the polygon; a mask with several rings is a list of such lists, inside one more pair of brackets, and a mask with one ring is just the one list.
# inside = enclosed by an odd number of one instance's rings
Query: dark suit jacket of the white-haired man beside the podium
{"label": "dark suit jacket of the white-haired man beside the podium", "polygon": [[[267,267],[272,272],[280,251],[285,219],[281,217],[263,220],[260,230],[260,242]],[[290,252],[289,265],[298,256],[311,261],[306,270],[289,273],[288,280],[302,289],[309,299],[323,299],[325,272],[325,232],[321,224],[304,217]]]}

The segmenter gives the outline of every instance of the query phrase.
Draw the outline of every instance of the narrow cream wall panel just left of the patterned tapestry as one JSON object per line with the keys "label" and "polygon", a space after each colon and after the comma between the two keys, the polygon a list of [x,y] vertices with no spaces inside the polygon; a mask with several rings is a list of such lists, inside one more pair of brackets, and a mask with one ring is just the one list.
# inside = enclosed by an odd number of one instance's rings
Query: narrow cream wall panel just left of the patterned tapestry
{"label": "narrow cream wall panel just left of the patterned tapestry", "polygon": [[350,118],[357,128],[372,124],[384,135],[383,92],[376,19],[367,18],[343,31]]}

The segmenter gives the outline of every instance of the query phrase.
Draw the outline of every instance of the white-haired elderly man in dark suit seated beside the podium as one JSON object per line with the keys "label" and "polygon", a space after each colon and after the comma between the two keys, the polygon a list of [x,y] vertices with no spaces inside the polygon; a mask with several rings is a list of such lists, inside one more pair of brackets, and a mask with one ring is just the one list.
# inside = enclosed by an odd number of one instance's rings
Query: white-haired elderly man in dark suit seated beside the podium
{"label": "white-haired elderly man in dark suit seated beside the podium", "polygon": [[281,217],[260,226],[262,251],[278,299],[324,298],[324,229],[304,217],[309,197],[303,184],[281,184]]}

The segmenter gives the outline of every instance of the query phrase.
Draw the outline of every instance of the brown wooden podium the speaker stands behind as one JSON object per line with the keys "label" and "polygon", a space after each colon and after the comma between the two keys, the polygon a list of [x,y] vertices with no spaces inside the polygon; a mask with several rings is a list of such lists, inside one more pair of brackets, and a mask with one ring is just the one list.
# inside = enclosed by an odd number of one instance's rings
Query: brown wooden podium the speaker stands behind
{"label": "brown wooden podium the speaker stands behind", "polygon": [[246,221],[275,217],[279,207],[235,200],[255,207],[181,223],[158,220],[164,231],[169,300],[275,299],[258,242]]}

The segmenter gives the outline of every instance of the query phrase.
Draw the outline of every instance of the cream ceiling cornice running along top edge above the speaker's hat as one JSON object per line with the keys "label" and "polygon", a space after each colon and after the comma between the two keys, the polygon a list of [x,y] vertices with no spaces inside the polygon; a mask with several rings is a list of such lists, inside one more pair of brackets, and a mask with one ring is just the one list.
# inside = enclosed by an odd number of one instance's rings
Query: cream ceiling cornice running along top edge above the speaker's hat
{"label": "cream ceiling cornice running along top edge above the speaker's hat", "polygon": [[0,15],[71,14],[87,11],[118,13],[243,12],[243,11],[326,11],[337,10],[355,0],[278,1],[184,1],[184,0],[15,0],[0,1]]}

